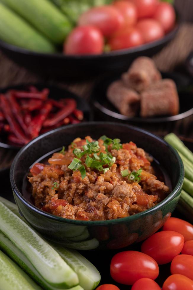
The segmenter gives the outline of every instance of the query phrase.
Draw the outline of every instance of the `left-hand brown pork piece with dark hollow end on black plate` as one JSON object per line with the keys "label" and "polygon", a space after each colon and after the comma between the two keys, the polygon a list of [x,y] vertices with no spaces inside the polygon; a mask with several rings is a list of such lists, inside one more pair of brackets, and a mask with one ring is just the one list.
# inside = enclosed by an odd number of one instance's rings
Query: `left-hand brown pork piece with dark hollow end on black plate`
{"label": "left-hand brown pork piece with dark hollow end on black plate", "polygon": [[122,80],[110,84],[107,90],[107,98],[122,115],[133,117],[139,110],[139,94],[127,88]]}

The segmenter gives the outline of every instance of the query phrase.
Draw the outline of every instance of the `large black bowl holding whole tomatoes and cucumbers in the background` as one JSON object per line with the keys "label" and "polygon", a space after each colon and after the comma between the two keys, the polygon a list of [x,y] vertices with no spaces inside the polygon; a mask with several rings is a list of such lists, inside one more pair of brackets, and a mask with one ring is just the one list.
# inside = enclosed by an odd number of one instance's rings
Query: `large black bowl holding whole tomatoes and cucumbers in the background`
{"label": "large black bowl holding whole tomatoes and cucumbers in the background", "polygon": [[81,80],[102,73],[126,71],[136,57],[151,57],[159,52],[176,36],[178,28],[179,20],[171,32],[157,41],[100,55],[66,56],[62,53],[38,53],[4,41],[0,41],[0,49],[10,59],[29,70],[54,78]]}

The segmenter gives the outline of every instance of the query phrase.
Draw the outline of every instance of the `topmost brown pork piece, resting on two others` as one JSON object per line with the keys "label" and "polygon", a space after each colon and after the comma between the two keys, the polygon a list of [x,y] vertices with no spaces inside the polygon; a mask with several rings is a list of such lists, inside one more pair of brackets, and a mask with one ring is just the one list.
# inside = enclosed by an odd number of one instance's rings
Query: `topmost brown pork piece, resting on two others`
{"label": "topmost brown pork piece, resting on two others", "polygon": [[152,83],[161,79],[154,61],[149,57],[138,57],[131,64],[128,72],[123,73],[122,80],[129,88],[141,92]]}

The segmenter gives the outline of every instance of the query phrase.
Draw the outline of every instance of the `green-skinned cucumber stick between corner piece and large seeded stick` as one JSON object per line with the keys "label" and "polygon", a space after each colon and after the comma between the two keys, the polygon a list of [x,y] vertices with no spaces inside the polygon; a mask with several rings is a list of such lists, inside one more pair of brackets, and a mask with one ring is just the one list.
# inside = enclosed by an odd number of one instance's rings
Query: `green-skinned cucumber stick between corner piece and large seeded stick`
{"label": "green-skinned cucumber stick between corner piece and large seeded stick", "polygon": [[[25,255],[18,249],[7,236],[0,231],[0,248],[6,253],[14,262],[17,263],[34,281],[36,281],[43,289],[46,290],[61,290],[49,285],[36,271],[33,265],[25,257]],[[69,289],[68,289],[69,290]],[[75,286],[70,290],[83,290],[81,286]]]}

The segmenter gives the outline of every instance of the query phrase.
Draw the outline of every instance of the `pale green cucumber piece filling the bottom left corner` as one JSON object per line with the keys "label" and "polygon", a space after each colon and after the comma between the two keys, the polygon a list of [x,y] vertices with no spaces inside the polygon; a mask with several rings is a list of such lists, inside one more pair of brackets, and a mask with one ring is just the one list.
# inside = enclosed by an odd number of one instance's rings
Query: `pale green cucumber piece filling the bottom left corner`
{"label": "pale green cucumber piece filling the bottom left corner", "polygon": [[41,288],[12,260],[0,251],[1,290],[40,290]]}

